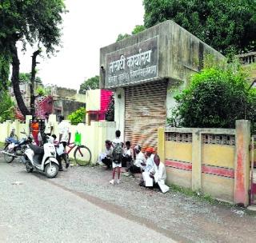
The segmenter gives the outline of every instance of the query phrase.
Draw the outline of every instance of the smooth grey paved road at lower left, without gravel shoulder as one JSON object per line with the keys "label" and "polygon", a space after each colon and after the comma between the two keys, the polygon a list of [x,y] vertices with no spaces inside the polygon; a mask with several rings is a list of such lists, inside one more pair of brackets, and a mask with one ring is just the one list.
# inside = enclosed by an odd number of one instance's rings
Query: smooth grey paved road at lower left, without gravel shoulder
{"label": "smooth grey paved road at lower left, without gravel shoulder", "polygon": [[0,161],[0,242],[174,242],[54,180]]}

